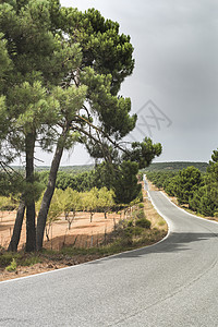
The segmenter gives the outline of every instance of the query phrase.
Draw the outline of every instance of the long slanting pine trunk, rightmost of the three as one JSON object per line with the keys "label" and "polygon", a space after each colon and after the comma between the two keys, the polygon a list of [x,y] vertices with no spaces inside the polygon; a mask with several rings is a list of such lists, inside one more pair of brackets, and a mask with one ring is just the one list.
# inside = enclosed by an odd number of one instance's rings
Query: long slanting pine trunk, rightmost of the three
{"label": "long slanting pine trunk, rightmost of the three", "polygon": [[57,179],[57,173],[58,173],[58,169],[60,166],[61,157],[63,154],[64,141],[66,137],[66,133],[68,133],[68,129],[65,129],[65,131],[62,132],[62,135],[60,136],[60,140],[57,144],[53,160],[51,162],[47,189],[44,193],[40,209],[38,213],[37,231],[36,231],[37,251],[40,251],[43,247],[47,215],[48,215],[49,206],[50,206],[51,198],[53,196],[53,192],[55,192],[55,187],[56,187],[56,179]]}

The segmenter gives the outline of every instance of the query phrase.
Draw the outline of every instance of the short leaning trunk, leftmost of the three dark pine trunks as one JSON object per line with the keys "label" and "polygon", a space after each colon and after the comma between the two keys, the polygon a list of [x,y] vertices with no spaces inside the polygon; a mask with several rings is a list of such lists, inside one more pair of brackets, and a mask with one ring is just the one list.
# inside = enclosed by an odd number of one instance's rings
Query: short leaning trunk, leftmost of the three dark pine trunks
{"label": "short leaning trunk, leftmost of the three dark pine trunks", "polygon": [[19,246],[19,242],[20,242],[20,238],[21,238],[23,219],[24,219],[24,213],[25,213],[25,202],[23,199],[21,199],[17,213],[16,213],[16,220],[15,220],[14,228],[13,228],[13,234],[12,234],[8,251],[13,251],[13,252],[17,251],[17,246]]}

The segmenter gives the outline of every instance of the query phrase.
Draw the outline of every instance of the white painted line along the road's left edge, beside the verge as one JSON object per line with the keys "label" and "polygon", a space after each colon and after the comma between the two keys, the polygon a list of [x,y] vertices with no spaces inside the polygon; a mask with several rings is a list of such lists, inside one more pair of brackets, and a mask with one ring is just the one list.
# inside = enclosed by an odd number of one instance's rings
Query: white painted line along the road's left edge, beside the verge
{"label": "white painted line along the road's left edge, beside the verge", "polygon": [[29,275],[29,276],[24,276],[24,277],[19,277],[19,278],[13,278],[13,279],[8,279],[8,280],[2,280],[2,281],[0,281],[0,284],[7,283],[7,282],[19,281],[19,280],[23,280],[23,279],[28,279],[28,278],[34,278],[34,277],[38,277],[38,276],[47,275],[47,274],[51,274],[51,272],[58,272],[58,271],[62,271],[62,270],[66,270],[66,269],[72,269],[72,268],[81,267],[81,266],[88,265],[88,264],[96,263],[96,262],[100,262],[100,261],[107,261],[108,258],[116,257],[116,256],[119,256],[119,255],[121,255],[121,254],[141,251],[142,249],[150,249],[152,246],[156,246],[157,244],[164,242],[164,241],[169,237],[169,234],[170,234],[170,232],[171,232],[171,223],[170,223],[170,221],[168,220],[168,218],[167,218],[164,214],[161,214],[161,213],[159,211],[159,209],[156,207],[156,205],[154,204],[154,202],[153,202],[153,199],[152,199],[152,197],[150,197],[149,191],[147,191],[147,194],[148,194],[148,196],[149,196],[149,199],[150,199],[150,202],[152,202],[154,208],[155,208],[156,211],[157,211],[157,213],[166,220],[167,226],[168,226],[168,233],[167,233],[167,235],[166,235],[162,240],[160,240],[159,242],[157,242],[157,243],[155,243],[155,244],[152,244],[152,245],[143,246],[143,247],[140,247],[140,249],[134,249],[134,250],[124,251],[124,252],[121,252],[121,253],[116,253],[116,254],[112,254],[112,255],[109,255],[109,256],[106,256],[106,257],[100,257],[100,258],[95,259],[95,261],[86,262],[86,263],[78,264],[78,265],[74,265],[74,266],[70,266],[70,267],[64,267],[64,268],[60,268],[60,269],[56,269],[56,270],[49,270],[49,271],[39,272],[39,274],[34,274],[34,275]]}

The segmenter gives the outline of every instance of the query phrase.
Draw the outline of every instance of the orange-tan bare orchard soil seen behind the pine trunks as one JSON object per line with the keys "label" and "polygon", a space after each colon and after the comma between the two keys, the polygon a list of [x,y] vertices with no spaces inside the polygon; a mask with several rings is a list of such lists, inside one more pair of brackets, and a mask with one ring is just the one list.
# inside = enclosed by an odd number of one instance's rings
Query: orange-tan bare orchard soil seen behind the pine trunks
{"label": "orange-tan bare orchard soil seen behind the pine trunks", "polygon": [[[0,213],[0,245],[8,247],[15,221],[15,211]],[[114,225],[122,217],[112,213],[105,219],[104,213],[96,213],[90,222],[89,213],[77,213],[75,219],[69,229],[69,223],[63,216],[53,222],[49,230],[49,241],[46,235],[44,238],[44,247],[60,250],[63,245],[74,244],[77,247],[89,247],[100,243],[105,234],[113,230]],[[19,250],[25,244],[26,223],[24,221],[21,234]]]}

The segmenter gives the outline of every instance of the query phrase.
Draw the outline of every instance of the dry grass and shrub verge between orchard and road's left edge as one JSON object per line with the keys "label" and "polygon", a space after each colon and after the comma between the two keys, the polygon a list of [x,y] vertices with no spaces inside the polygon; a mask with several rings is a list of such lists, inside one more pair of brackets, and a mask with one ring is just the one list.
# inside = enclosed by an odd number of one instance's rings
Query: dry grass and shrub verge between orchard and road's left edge
{"label": "dry grass and shrub verge between orchard and road's left edge", "polygon": [[59,251],[44,249],[39,253],[13,253],[1,247],[0,280],[72,266],[157,243],[167,234],[167,223],[153,208],[145,191],[143,196],[144,202],[137,199],[123,209],[125,218],[97,245],[76,247],[72,244]]}

